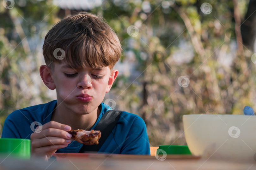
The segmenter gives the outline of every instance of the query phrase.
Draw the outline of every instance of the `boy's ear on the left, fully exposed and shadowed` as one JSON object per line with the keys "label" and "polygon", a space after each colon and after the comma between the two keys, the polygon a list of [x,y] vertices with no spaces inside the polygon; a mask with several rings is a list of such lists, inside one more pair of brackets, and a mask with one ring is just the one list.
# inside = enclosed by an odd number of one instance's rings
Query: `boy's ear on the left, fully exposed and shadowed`
{"label": "boy's ear on the left, fully exposed and shadowed", "polygon": [[51,89],[54,90],[56,88],[55,83],[52,79],[52,71],[47,65],[41,65],[40,67],[40,76],[45,83],[45,85]]}

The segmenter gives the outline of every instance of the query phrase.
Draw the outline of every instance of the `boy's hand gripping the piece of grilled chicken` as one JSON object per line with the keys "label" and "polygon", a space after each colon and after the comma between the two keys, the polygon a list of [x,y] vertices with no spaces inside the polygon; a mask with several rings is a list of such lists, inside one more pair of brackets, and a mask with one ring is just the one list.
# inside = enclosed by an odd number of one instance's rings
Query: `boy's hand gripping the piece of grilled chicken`
{"label": "boy's hand gripping the piece of grilled chicken", "polygon": [[48,159],[56,150],[67,147],[71,143],[72,135],[68,133],[71,127],[58,122],[48,122],[42,126],[40,133],[32,133],[31,155]]}

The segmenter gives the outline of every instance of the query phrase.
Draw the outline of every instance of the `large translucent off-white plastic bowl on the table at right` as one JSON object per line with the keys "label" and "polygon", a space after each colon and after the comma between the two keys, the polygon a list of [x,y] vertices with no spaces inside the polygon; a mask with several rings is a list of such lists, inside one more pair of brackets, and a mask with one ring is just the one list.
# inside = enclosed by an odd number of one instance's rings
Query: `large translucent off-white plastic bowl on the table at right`
{"label": "large translucent off-white plastic bowl on the table at right", "polygon": [[193,155],[256,161],[256,116],[184,115],[183,124]]}

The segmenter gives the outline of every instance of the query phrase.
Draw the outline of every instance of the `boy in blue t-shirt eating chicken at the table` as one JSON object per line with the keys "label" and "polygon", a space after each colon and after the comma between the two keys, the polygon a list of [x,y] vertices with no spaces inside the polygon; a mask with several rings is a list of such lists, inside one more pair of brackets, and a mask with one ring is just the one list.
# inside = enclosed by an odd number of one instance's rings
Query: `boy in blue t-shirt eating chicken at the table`
{"label": "boy in blue t-shirt eating chicken at the table", "polygon": [[[71,127],[94,129],[111,110],[101,102],[118,75],[113,66],[121,56],[121,45],[104,21],[82,12],[52,27],[43,55],[46,65],[41,65],[40,76],[49,89],[56,89],[57,100],[11,113],[2,138],[31,139],[31,155],[48,160],[55,152],[78,153],[83,144],[71,141]],[[122,112],[98,151],[150,154],[144,121]]]}

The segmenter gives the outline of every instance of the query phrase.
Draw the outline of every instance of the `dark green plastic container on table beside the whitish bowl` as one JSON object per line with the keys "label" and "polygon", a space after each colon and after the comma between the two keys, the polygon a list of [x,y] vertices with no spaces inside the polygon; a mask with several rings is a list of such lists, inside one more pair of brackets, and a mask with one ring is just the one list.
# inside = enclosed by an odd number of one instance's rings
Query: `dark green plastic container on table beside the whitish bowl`
{"label": "dark green plastic container on table beside the whitish bowl", "polygon": [[156,153],[159,154],[162,150],[166,152],[167,155],[192,155],[188,146],[180,145],[160,145]]}

